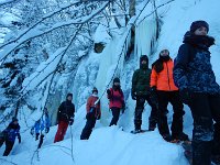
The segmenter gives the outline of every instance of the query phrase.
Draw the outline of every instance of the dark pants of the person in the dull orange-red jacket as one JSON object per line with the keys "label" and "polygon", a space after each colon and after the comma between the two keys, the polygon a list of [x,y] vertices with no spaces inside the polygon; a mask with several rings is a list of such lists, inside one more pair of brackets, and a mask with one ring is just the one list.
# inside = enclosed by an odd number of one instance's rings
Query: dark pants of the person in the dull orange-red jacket
{"label": "dark pants of the person in the dull orange-red jacket", "polygon": [[87,119],[86,125],[85,125],[85,128],[81,132],[81,135],[80,135],[80,140],[88,140],[89,139],[95,124],[96,124],[96,118],[95,117]]}

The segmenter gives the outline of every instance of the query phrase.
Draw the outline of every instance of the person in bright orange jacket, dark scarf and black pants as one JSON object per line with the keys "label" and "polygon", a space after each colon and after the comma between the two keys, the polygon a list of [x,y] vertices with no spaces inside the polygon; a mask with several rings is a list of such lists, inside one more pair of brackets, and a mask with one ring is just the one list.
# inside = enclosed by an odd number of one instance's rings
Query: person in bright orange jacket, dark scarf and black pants
{"label": "person in bright orange jacket, dark scarf and black pants", "polygon": [[[160,57],[152,65],[151,88],[156,92],[158,100],[158,131],[166,141],[188,140],[188,135],[183,132],[184,105],[179,97],[178,88],[173,78],[174,62],[169,56],[168,50],[163,50]],[[174,114],[172,122],[172,135],[167,123],[167,106],[172,103]]]}

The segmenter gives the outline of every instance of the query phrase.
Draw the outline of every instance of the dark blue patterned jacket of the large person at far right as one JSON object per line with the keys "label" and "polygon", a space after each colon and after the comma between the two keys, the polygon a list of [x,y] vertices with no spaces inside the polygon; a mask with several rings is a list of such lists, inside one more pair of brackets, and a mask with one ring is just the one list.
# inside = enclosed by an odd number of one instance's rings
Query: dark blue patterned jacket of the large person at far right
{"label": "dark blue patterned jacket of the large person at far right", "polygon": [[[187,34],[186,34],[187,35]],[[220,87],[210,63],[209,36],[185,35],[174,63],[174,81],[179,90],[193,92],[220,94]],[[206,43],[208,44],[202,44]]]}

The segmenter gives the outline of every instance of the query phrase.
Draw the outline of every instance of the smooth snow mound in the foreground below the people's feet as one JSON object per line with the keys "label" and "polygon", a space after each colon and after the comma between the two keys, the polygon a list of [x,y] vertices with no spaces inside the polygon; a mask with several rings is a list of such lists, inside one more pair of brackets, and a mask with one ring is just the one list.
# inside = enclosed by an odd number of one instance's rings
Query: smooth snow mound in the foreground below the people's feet
{"label": "smooth snow mound in the foreground below the people's feet", "polygon": [[[73,157],[72,157],[73,145]],[[16,148],[14,148],[16,150]],[[167,152],[168,151],[168,152]],[[158,132],[130,134],[118,127],[96,129],[89,141],[67,139],[7,157],[19,165],[185,165],[183,148],[166,143]],[[9,162],[1,162],[7,165]]]}

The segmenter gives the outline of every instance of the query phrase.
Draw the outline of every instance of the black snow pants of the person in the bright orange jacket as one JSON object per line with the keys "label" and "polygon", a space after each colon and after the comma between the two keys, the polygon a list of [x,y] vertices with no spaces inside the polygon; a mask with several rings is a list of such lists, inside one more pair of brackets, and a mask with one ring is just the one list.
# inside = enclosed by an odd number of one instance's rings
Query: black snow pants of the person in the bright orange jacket
{"label": "black snow pants of the person in the bright orange jacket", "polygon": [[185,114],[184,105],[180,100],[178,91],[157,91],[158,99],[158,131],[161,135],[169,135],[169,129],[167,123],[167,106],[172,103],[174,114],[172,122],[172,136],[178,136],[183,133],[183,116]]}

